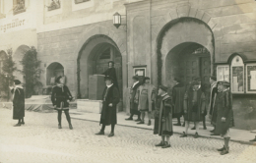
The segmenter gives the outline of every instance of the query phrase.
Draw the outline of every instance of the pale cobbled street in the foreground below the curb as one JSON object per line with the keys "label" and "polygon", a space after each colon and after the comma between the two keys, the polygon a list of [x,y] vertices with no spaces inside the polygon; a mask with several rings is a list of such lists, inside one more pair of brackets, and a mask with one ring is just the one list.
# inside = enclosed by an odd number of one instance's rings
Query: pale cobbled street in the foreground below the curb
{"label": "pale cobbled street in the foreground below the curb", "polygon": [[72,120],[68,129],[62,115],[62,130],[57,129],[57,113],[26,112],[25,126],[13,127],[12,112],[0,109],[1,163],[169,163],[169,162],[256,162],[256,146],[230,142],[230,153],[221,156],[219,139],[171,137],[171,148],[155,147],[160,136],[150,130],[117,126],[115,136],[95,136],[96,122]]}

